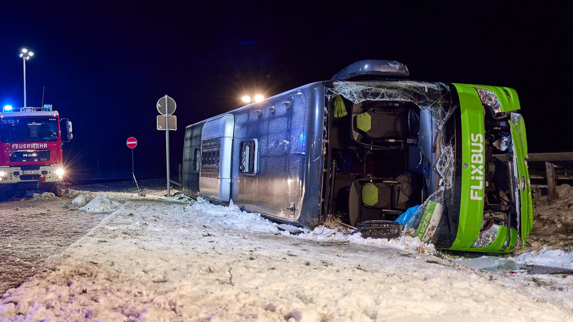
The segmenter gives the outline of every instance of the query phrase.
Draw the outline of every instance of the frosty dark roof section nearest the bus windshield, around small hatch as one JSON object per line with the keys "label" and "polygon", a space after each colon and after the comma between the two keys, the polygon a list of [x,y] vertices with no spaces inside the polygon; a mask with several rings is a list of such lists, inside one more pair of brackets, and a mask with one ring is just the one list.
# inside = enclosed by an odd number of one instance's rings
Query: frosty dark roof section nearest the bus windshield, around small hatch
{"label": "frosty dark roof section nearest the bus windshield, around small hatch", "polygon": [[[233,201],[304,226],[316,226],[320,216],[324,94],[321,83],[311,85],[238,111],[233,146]],[[238,171],[240,144],[252,139],[258,140],[256,175]]]}

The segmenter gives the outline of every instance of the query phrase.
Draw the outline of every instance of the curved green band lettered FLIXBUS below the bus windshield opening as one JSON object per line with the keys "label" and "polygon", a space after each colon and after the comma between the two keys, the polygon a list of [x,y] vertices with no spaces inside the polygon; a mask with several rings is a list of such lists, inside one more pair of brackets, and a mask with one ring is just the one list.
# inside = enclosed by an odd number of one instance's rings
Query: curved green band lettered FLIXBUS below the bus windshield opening
{"label": "curved green band lettered FLIXBUS below the bus windshield opening", "polygon": [[[472,146],[470,146],[471,135],[481,134],[482,144],[484,143],[484,108],[481,105],[480,96],[477,95],[476,89],[472,85],[453,84],[460,97],[460,112],[462,121],[462,164],[468,164],[468,167],[462,167],[461,183],[461,200],[460,200],[460,218],[458,221],[458,232],[456,240],[450,249],[468,250],[476,241],[481,229],[481,218],[484,213],[484,183],[482,180],[481,189],[477,191],[480,200],[470,199],[472,184],[477,180],[471,179],[472,167]],[[484,149],[481,149],[481,158],[485,160]]]}

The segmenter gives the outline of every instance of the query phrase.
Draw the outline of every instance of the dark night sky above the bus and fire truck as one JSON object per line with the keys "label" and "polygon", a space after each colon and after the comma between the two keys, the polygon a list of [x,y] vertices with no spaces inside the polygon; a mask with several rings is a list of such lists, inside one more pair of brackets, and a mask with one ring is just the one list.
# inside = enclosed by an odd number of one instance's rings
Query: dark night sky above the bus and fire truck
{"label": "dark night sky above the bus and fire truck", "polygon": [[[177,102],[171,159],[182,159],[186,125],[240,107],[244,93],[266,97],[328,80],[355,61],[406,64],[410,79],[502,85],[517,90],[529,152],[572,151],[572,23],[557,6],[462,2],[320,7],[308,2],[229,7],[79,2],[0,5],[0,104],[53,104],[73,121],[64,144],[70,166],[131,167],[164,175],[165,133],[155,103]],[[280,6],[281,2],[273,2]],[[457,3],[457,2],[454,2]]]}

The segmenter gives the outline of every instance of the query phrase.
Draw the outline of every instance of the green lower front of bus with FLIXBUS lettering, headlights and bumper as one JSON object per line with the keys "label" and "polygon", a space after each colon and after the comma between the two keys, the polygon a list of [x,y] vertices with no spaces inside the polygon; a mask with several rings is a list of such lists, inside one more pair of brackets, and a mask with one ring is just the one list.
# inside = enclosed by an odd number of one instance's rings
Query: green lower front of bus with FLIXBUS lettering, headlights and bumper
{"label": "green lower front of bus with FLIXBUS lettering, headlights and bumper", "polygon": [[454,192],[454,198],[459,196],[457,233],[448,248],[511,252],[524,246],[533,227],[519,98],[512,88],[453,85],[460,100],[456,176],[461,184]]}

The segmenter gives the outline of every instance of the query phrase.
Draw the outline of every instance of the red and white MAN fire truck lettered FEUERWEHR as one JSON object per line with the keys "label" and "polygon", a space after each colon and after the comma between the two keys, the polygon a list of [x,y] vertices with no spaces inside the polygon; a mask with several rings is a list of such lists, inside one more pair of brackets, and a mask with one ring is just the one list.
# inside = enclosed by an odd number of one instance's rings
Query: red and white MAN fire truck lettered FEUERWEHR
{"label": "red and white MAN fire truck lettered FEUERWEHR", "polygon": [[51,104],[12,108],[0,113],[0,201],[21,191],[62,195],[62,145],[73,138],[72,122]]}

